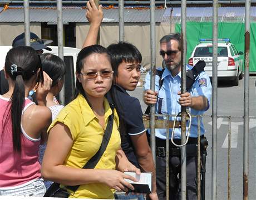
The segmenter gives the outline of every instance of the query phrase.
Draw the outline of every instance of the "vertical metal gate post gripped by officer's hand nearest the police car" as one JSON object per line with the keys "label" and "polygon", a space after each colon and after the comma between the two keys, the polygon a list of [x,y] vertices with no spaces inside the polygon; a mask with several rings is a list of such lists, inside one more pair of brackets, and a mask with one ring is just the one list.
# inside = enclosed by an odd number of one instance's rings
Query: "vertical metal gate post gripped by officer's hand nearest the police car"
{"label": "vertical metal gate post gripped by officer's hand nearest the police car", "polygon": [[[181,93],[186,92],[186,0],[181,0]],[[181,106],[181,143],[186,142],[186,107]],[[186,145],[181,147],[181,200],[186,200]]]}

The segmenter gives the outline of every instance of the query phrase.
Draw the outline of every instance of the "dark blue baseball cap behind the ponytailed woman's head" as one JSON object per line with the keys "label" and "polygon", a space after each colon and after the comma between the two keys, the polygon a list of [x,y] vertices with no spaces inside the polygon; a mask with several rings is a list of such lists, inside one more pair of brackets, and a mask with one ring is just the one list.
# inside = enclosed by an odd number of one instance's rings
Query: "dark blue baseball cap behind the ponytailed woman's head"
{"label": "dark blue baseball cap behind the ponytailed woman's head", "polygon": [[[35,50],[52,50],[51,48],[47,47],[46,44],[52,43],[52,40],[46,40],[46,39],[40,39],[35,33],[30,32],[30,46]],[[12,42],[12,47],[19,47],[19,46],[25,46],[25,33],[22,33],[18,35],[16,38],[14,38]]]}

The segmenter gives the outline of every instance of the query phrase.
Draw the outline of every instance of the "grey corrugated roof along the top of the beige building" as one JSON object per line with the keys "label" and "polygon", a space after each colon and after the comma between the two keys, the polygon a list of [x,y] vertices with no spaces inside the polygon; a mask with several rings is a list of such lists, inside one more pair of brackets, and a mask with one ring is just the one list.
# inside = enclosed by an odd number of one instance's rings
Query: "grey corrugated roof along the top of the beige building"
{"label": "grey corrugated roof along the top of the beige building", "polygon": [[[119,11],[116,8],[104,9],[103,22],[119,22]],[[65,8],[63,9],[63,22],[88,22],[85,17],[85,9]],[[155,21],[162,22],[164,9],[155,10]],[[29,9],[30,22],[57,22],[57,10],[53,8]],[[150,22],[150,9],[125,9],[125,22]],[[24,22],[22,8],[9,8],[0,13],[0,22]]]}

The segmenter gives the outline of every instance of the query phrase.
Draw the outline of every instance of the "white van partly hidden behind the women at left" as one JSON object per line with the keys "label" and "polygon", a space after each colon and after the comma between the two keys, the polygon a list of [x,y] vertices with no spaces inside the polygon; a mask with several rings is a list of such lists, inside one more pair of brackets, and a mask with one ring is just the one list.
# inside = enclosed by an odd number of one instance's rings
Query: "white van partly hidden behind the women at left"
{"label": "white van partly hidden behind the women at left", "polygon": [[[51,53],[54,55],[58,55],[58,47],[57,46],[47,46],[52,50],[48,51],[46,49],[43,50],[43,53]],[[4,62],[6,60],[6,54],[11,49],[12,46],[0,46],[0,70],[4,68]],[[76,72],[76,58],[80,49],[64,47],[63,55],[64,62],[66,64],[66,75],[65,75],[65,104],[69,102],[73,94],[73,90],[75,89],[75,72]]]}

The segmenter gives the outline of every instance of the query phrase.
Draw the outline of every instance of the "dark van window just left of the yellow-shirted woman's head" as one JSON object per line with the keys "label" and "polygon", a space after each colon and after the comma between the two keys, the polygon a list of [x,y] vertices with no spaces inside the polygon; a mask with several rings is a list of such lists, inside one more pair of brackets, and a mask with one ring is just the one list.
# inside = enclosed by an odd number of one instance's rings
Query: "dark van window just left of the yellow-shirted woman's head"
{"label": "dark van window just left of the yellow-shirted woman's head", "polygon": [[72,55],[64,57],[64,62],[66,64],[66,74],[65,74],[65,105],[71,101],[73,92],[75,91],[75,73],[73,65]]}

